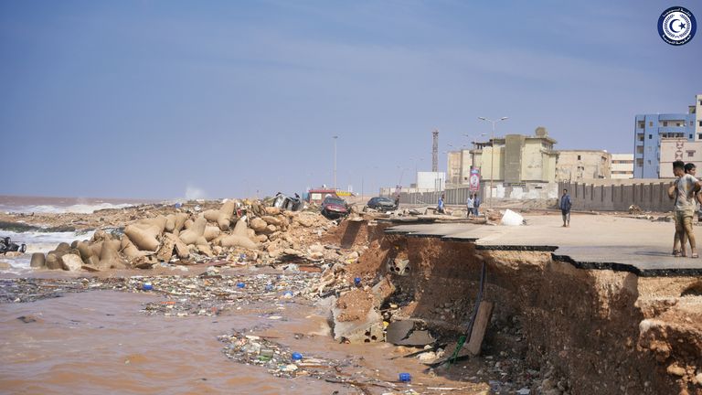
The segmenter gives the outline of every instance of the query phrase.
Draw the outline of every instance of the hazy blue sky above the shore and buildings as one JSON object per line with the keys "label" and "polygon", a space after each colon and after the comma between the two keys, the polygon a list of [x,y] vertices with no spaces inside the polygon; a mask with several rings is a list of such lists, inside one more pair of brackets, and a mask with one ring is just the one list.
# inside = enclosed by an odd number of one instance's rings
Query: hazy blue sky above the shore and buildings
{"label": "hazy blue sky above the shore and buildings", "polygon": [[702,28],[658,37],[672,5],[702,23],[694,1],[0,0],[0,195],[263,197],[335,163],[370,195],[431,171],[434,129],[445,171],[480,116],[632,153],[635,114],[702,93]]}

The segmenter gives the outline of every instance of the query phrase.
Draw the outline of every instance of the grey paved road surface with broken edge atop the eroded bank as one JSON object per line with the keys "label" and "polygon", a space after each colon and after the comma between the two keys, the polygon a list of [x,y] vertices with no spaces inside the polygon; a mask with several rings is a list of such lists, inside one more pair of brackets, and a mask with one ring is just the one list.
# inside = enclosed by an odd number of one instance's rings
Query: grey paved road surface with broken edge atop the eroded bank
{"label": "grey paved road surface with broken edge atop the eroded bank", "polygon": [[[673,222],[653,222],[606,215],[573,214],[570,227],[559,215],[525,216],[527,225],[486,226],[412,224],[388,228],[410,237],[474,242],[484,250],[554,251],[554,257],[582,269],[633,272],[640,276],[702,275],[702,259],[675,258]],[[702,226],[695,226],[702,253]],[[689,245],[687,248],[689,255]]]}

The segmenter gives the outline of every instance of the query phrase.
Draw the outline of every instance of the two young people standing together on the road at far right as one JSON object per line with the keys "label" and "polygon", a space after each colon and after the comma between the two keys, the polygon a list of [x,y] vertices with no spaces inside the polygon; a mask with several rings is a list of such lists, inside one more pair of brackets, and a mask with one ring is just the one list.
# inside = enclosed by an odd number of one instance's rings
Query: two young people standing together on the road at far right
{"label": "two young people standing together on the road at far right", "polygon": [[686,244],[690,243],[690,258],[698,258],[695,232],[692,219],[695,216],[697,202],[702,204],[702,194],[698,193],[702,182],[695,177],[697,167],[681,160],[673,162],[675,182],[668,187],[668,197],[675,199],[675,236],[673,255],[685,257]]}

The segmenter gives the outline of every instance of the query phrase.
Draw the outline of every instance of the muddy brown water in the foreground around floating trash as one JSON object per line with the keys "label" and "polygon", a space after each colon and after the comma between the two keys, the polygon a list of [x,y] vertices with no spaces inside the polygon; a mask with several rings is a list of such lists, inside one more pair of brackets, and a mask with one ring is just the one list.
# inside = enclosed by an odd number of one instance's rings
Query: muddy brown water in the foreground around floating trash
{"label": "muddy brown water in the foreground around floating trash", "polygon": [[[282,379],[266,368],[235,362],[217,336],[255,326],[256,335],[316,358],[350,358],[365,377],[397,379],[410,372],[412,387],[445,386],[422,373],[416,360],[399,358],[385,343],[341,345],[328,336],[320,307],[286,304],[280,321],[262,316],[271,306],[249,305],[219,316],[145,315],[153,294],[92,291],[33,303],[0,305],[0,392],[27,394],[340,394],[360,393],[342,384],[298,377]],[[32,315],[24,323],[19,316]],[[299,339],[293,334],[302,333]],[[424,379],[425,383],[420,381]],[[397,390],[409,390],[400,385]],[[388,392],[375,388],[373,393]],[[433,392],[433,391],[431,391]],[[455,393],[455,392],[454,392]]]}

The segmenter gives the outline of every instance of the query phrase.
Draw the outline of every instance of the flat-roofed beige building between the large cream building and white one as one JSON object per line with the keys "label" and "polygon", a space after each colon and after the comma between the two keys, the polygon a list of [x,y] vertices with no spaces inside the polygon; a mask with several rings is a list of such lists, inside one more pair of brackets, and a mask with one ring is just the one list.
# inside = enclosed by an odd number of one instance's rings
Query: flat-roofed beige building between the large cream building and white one
{"label": "flat-roofed beige building between the large cream building and white one", "polygon": [[604,150],[558,150],[557,181],[610,178],[612,155]]}

